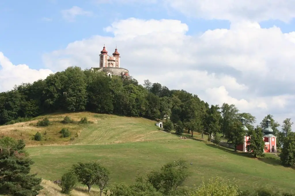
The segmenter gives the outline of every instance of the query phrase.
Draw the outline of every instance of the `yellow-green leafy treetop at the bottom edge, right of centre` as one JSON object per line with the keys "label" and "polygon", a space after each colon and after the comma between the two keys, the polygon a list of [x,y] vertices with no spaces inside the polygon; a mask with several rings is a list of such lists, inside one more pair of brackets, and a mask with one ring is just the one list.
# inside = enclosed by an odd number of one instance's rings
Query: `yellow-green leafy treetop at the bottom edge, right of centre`
{"label": "yellow-green leafy treetop at the bottom edge, right of centre", "polygon": [[239,185],[238,181],[233,179],[233,183],[227,180],[222,179],[221,177],[216,176],[209,179],[209,182],[204,182],[202,178],[202,184],[200,187],[195,188],[192,191],[186,192],[187,196],[239,196]]}

